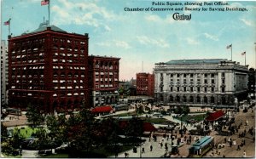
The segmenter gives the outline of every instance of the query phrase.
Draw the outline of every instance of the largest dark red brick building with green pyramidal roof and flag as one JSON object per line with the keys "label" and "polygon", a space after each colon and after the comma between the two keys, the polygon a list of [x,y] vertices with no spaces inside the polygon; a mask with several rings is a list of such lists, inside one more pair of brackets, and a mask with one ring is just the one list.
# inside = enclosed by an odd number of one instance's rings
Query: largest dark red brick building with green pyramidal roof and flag
{"label": "largest dark red brick building with green pyramidal roof and flag", "polygon": [[88,102],[88,41],[87,33],[68,33],[47,22],[9,37],[9,105],[61,112]]}

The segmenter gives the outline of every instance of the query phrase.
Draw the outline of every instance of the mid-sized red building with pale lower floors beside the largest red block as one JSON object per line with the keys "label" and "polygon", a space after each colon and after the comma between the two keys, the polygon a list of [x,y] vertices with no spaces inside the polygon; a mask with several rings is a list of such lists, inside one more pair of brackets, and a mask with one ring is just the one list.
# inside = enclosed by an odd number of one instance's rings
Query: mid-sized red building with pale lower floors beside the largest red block
{"label": "mid-sized red building with pale lower floors beside the largest red block", "polygon": [[114,57],[89,56],[91,105],[112,105],[119,101],[119,60]]}

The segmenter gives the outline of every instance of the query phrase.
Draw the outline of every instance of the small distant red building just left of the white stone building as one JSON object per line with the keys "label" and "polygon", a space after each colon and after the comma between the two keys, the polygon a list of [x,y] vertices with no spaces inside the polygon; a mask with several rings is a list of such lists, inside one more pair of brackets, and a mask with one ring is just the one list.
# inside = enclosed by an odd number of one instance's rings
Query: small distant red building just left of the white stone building
{"label": "small distant red building just left of the white stone building", "polygon": [[137,73],[137,95],[154,97],[154,74]]}

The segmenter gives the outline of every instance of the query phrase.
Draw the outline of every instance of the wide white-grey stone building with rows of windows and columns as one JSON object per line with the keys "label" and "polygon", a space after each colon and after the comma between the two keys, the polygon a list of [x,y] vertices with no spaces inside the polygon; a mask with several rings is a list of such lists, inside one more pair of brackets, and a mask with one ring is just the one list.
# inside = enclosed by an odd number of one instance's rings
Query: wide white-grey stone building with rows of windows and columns
{"label": "wide white-grey stone building with rows of windows and columns", "polygon": [[247,66],[225,59],[171,60],[154,67],[154,97],[170,105],[234,106],[247,99]]}

